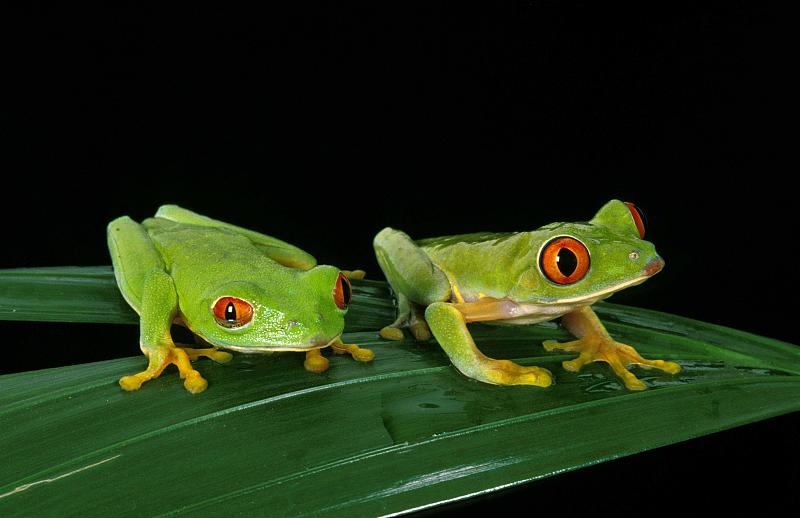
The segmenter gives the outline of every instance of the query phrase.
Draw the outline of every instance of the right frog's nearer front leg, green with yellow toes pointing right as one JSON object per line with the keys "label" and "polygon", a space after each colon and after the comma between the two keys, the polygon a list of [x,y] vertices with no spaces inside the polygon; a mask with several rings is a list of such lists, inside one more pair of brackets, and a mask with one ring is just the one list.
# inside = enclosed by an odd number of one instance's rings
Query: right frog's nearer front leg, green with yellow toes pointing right
{"label": "right frog's nearer front leg, green with yellow toes pointing right", "polygon": [[470,378],[495,385],[548,387],[552,384],[552,377],[547,369],[525,367],[509,360],[495,360],[481,353],[469,334],[464,313],[456,305],[447,302],[433,303],[425,311],[425,318],[450,361]]}

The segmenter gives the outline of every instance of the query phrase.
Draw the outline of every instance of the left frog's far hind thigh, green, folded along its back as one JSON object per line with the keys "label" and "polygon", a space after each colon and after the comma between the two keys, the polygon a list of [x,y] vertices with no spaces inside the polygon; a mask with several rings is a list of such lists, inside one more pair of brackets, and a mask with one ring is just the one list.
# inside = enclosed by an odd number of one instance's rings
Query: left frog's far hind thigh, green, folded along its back
{"label": "left frog's far hind thigh, green, folded along its back", "polygon": [[188,223],[203,227],[224,228],[232,232],[236,232],[237,234],[249,239],[259,250],[264,252],[267,257],[290,268],[308,270],[317,264],[317,260],[313,255],[285,241],[281,241],[280,239],[262,234],[260,232],[237,227],[236,225],[231,225],[230,223],[217,221],[207,216],[197,214],[196,212],[178,207],[177,205],[162,205],[158,208],[156,217],[168,219],[170,221],[176,221],[178,223]]}

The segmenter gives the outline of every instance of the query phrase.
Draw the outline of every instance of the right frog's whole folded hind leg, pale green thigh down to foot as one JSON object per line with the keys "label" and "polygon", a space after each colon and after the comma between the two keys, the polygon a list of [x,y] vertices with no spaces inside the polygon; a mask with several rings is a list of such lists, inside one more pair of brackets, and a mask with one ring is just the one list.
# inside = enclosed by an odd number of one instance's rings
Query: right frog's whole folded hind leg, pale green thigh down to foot
{"label": "right frog's whole folded hind leg, pale green thigh down to foot", "polygon": [[383,338],[401,340],[408,327],[417,340],[428,340],[430,329],[423,307],[448,300],[447,276],[407,234],[385,228],[373,241],[375,256],[397,296],[397,319],[380,331]]}

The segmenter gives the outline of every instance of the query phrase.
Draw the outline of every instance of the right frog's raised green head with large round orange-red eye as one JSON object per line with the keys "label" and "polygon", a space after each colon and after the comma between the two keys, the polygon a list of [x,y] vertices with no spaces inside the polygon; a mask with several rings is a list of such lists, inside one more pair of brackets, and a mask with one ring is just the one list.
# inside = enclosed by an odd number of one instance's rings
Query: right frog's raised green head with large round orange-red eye
{"label": "right frog's raised green head with large round orange-red eye", "polygon": [[[536,231],[538,250],[512,294],[517,301],[583,306],[640,284],[664,267],[645,241],[643,213],[612,200],[588,222]],[[535,259],[535,261],[533,260]]]}

